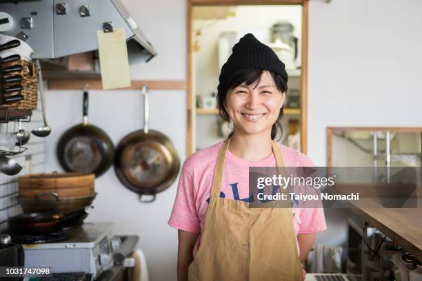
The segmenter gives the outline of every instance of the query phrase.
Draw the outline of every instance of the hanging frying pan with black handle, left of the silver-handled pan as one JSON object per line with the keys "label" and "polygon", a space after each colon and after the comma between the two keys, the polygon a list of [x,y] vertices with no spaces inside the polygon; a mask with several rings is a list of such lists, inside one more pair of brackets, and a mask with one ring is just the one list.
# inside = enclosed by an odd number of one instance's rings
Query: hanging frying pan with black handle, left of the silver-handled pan
{"label": "hanging frying pan with black handle, left of the silver-handled pan", "polygon": [[106,132],[88,123],[88,87],[83,90],[83,122],[68,129],[57,145],[63,169],[101,176],[113,163],[114,145]]}

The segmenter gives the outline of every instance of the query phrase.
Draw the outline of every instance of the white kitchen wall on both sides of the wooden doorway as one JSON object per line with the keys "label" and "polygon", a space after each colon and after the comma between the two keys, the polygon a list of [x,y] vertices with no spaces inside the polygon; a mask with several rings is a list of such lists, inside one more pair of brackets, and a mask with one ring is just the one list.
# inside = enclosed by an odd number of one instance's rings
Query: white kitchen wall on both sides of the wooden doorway
{"label": "white kitchen wall on both sides of the wooden doorway", "polygon": [[[133,17],[159,55],[132,67],[133,79],[185,79],[185,1],[126,0]],[[310,1],[308,152],[325,165],[327,126],[421,126],[419,95],[422,27],[419,0]],[[90,121],[117,143],[141,126],[136,91],[92,91]],[[185,92],[152,91],[151,127],[168,134],[185,158]],[[80,122],[81,93],[47,93],[53,134],[46,139],[46,169],[59,169],[55,145],[61,133]],[[126,190],[110,169],[97,180],[96,209],[88,221],[111,220],[116,233],[137,233],[150,280],[175,280],[177,231],[166,222],[176,185],[145,205]],[[319,241],[339,244],[345,218],[326,210],[328,233]],[[325,231],[328,232],[328,231]]]}

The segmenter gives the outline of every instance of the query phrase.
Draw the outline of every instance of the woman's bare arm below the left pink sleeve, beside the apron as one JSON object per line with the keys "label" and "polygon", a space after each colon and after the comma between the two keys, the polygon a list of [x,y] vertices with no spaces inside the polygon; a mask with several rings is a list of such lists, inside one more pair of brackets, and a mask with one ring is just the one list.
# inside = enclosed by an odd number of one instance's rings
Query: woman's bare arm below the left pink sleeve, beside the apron
{"label": "woman's bare arm below the left pink sleeve, beside the apron", "polygon": [[188,280],[188,267],[193,260],[193,249],[199,232],[179,229],[179,251],[177,253],[177,281]]}

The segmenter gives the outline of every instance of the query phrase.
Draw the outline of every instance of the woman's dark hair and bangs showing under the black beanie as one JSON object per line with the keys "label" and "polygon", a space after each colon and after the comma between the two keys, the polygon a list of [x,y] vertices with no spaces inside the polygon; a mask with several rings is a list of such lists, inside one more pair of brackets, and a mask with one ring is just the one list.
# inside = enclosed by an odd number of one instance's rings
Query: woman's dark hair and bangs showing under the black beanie
{"label": "woman's dark hair and bangs showing under the black beanie", "polygon": [[[245,83],[246,85],[252,85],[253,83],[257,82],[259,83],[259,79],[261,79],[261,75],[265,70],[259,69],[259,68],[245,68],[244,70],[239,70],[238,72],[234,72],[228,79],[225,79],[225,81],[221,81],[217,87],[217,107],[219,108],[219,114],[221,118],[229,122],[230,116],[225,111],[225,97],[227,96],[227,93],[229,90],[234,89],[235,87],[241,85],[242,83]],[[287,83],[285,83],[284,79],[279,75],[275,74],[274,72],[267,70],[270,72],[272,79],[274,79],[274,83],[278,90],[280,90],[282,93],[287,92],[288,86]],[[281,118],[283,117],[283,107],[281,107],[279,117],[277,118],[277,121],[272,125],[271,128],[271,139],[274,140],[274,138],[277,136],[278,130],[280,130],[281,135],[283,134],[283,127],[281,127]],[[233,132],[230,133],[230,136],[232,136]]]}

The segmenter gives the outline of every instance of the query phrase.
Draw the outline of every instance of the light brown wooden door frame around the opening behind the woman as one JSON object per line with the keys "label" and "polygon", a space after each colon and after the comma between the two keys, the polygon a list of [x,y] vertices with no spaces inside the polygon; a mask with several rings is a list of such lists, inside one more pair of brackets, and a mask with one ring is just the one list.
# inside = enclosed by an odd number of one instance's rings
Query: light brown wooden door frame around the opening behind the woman
{"label": "light brown wooden door frame around the opening behind the woman", "polygon": [[308,0],[188,0],[187,1],[187,130],[186,156],[194,152],[192,89],[192,7],[193,6],[240,6],[240,5],[301,5],[302,6],[302,54],[301,54],[301,152],[308,152]]}

